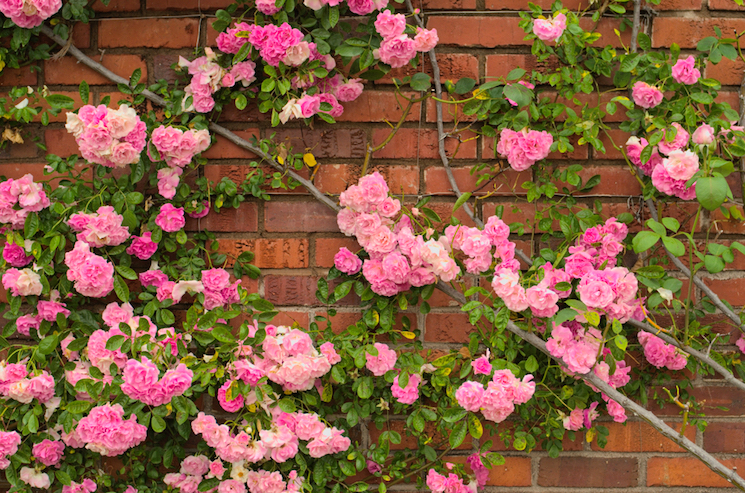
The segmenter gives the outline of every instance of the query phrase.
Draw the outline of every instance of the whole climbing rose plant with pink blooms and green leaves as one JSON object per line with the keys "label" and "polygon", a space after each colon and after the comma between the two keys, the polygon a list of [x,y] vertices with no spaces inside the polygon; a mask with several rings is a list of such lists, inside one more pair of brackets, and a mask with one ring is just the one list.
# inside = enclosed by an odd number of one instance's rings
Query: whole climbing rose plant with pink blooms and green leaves
{"label": "whole climbing rose plant with pink blooms and green leaves", "polygon": [[[195,224],[249,197],[268,200],[268,189],[298,186],[290,171],[316,166],[315,157],[254,142],[281,172],[269,175],[254,162],[241,183],[211,183],[199,176],[210,123],[230,104],[255,105],[272,125],[333,123],[343,103],[360,97],[363,80],[414,65],[417,53],[435,47],[435,30],[408,24],[419,12],[362,0],[260,0],[245,13],[233,5],[217,13],[215,49],[174,60],[184,89],[163,81],[150,88],[166,99],[162,114],[136,109],[146,95],[139,72],[120,85],[130,99],[116,105],[88,104],[82,83],[84,105],[67,111],[66,123],[81,159],[50,155],[44,177],[0,183],[9,300],[0,338],[0,468],[12,491],[341,493],[375,482],[385,493],[415,482],[435,493],[470,493],[504,459],[485,440],[465,464],[447,462],[467,436],[487,433],[516,450],[541,447],[556,456],[565,436],[583,430],[602,446],[608,431],[598,418],[627,419],[606,392],[646,400],[646,389],[667,374],[653,368],[709,371],[681,347],[711,347],[716,337],[704,316],[721,302],[709,296],[694,305],[660,256],[636,265],[632,254],[662,248],[687,256],[692,279],[745,253],[737,242],[701,248],[697,236],[703,215],[743,219],[726,178],[745,155],[745,133],[737,112],[717,102],[719,83],[700,70],[707,59],[734,58],[737,40],[706,38],[686,58],[676,47],[651,51],[644,34],[641,53],[601,48],[599,34],[579,26],[582,15],[599,13],[573,13],[560,2],[548,15],[530,9],[521,27],[533,54],[561,67],[515,68],[506,80],[479,86],[448,82],[438,102],[496,139],[495,157],[506,163],[477,167],[479,184],[499,181],[506,166],[532,170],[535,179],[522,190],[545,207],[527,224],[507,224],[500,207],[483,227],[469,226],[455,217],[483,199],[469,192],[443,221],[428,198],[396,195],[365,167],[339,197],[337,215],[359,249],[335,255],[317,292],[329,318],[307,327],[273,324],[274,306],[244,285],[259,275],[253,254],[221,253],[215,236]],[[11,65],[48,56],[24,29],[38,33],[57,11],[68,22],[90,16],[73,3],[0,1],[16,25],[3,27],[17,45]],[[354,31],[349,16],[359,16]],[[56,22],[55,34],[67,30]],[[619,94],[604,108],[569,105],[592,92],[598,77],[612,77]],[[431,86],[424,73],[394,82],[400,97],[407,85]],[[549,89],[554,96],[543,94]],[[35,106],[40,97],[51,110]],[[69,98],[25,88],[2,103],[3,115],[17,122],[40,115],[46,123],[50,113],[74,109]],[[613,142],[603,120],[619,106],[628,117],[621,129],[633,134],[625,143]],[[451,135],[462,130],[456,123]],[[692,220],[656,216],[632,235],[630,214],[581,203],[575,195],[599,177],[584,182],[581,166],[557,169],[547,158],[573,150],[570,137],[604,152],[601,133],[623,151],[645,198],[687,201]],[[546,245],[538,255],[517,249],[526,231]],[[458,350],[425,349],[409,318],[430,310],[436,288],[465,298],[468,341]],[[334,305],[352,294],[360,320],[332,327]],[[675,317],[664,327],[655,322],[672,313],[683,325]],[[511,324],[539,336],[546,352],[507,330]],[[745,348],[742,336],[737,347]],[[632,349],[646,363],[632,365]],[[742,376],[735,355],[712,354]],[[606,390],[587,383],[589,376]],[[685,387],[670,398],[685,408],[686,424],[704,427],[701,408],[682,404],[690,399]],[[370,443],[360,438],[362,423],[376,431]],[[412,441],[394,451],[404,435]]]}

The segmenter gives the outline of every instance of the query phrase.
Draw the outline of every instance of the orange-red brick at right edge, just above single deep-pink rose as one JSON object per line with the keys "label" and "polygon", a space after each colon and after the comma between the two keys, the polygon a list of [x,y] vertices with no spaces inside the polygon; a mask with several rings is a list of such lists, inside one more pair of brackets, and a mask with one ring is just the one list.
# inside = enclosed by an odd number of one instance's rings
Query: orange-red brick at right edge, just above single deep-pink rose
{"label": "orange-red brick at right edge, just above single deep-pink rose", "polygon": [[745,30],[745,19],[658,17],[654,20],[652,44],[655,48],[672,43],[677,43],[681,48],[695,48],[702,38],[716,35],[715,26],[725,36],[730,36]]}

